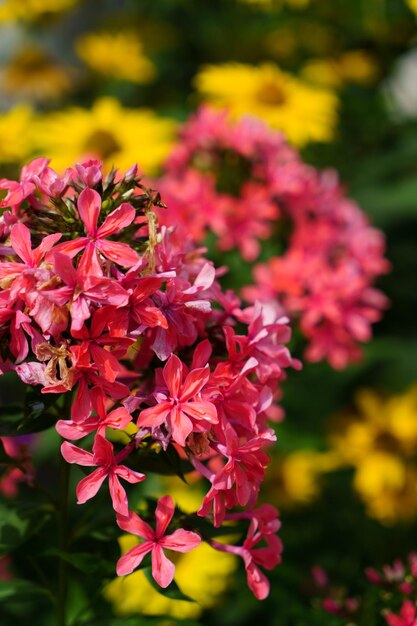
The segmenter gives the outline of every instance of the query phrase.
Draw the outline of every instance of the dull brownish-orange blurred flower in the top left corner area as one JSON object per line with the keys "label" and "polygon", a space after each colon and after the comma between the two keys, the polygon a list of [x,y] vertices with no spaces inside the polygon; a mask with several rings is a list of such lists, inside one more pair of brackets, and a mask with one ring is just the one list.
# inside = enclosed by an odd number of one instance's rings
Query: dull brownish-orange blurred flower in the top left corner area
{"label": "dull brownish-orange blurred flower in the top left corner area", "polygon": [[2,85],[13,96],[53,100],[70,91],[72,70],[56,64],[41,48],[19,50],[2,72]]}

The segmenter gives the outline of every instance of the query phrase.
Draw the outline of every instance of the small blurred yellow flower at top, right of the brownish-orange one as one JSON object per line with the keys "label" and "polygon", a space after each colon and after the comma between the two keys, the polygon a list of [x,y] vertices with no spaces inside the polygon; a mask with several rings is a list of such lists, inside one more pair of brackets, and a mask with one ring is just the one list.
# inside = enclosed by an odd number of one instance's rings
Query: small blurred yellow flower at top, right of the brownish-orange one
{"label": "small blurred yellow flower at top, right of the brownish-orange one", "polygon": [[104,76],[147,83],[156,75],[134,32],[84,35],[77,40],[75,50],[88,67]]}

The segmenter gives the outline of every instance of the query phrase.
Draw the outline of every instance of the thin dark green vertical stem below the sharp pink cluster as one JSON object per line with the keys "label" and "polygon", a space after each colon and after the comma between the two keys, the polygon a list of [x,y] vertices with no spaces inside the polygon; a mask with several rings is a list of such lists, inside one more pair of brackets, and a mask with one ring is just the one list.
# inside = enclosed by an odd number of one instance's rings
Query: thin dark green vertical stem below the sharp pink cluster
{"label": "thin dark green vertical stem below the sharp pink cluster", "polygon": [[[65,414],[69,419],[71,412],[72,394],[65,398]],[[61,552],[67,552],[68,540],[68,492],[70,479],[70,465],[66,462],[59,449],[59,507],[58,507],[58,541]],[[68,596],[68,563],[62,556],[58,557],[58,594],[57,594],[57,626],[67,626],[67,596]]]}

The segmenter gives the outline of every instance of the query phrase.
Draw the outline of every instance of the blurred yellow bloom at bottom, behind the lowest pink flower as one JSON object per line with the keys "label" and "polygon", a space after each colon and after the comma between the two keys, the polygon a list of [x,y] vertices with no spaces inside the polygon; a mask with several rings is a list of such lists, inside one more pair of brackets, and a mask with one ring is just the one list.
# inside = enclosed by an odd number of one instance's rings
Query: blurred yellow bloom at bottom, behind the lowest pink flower
{"label": "blurred yellow bloom at bottom, behind the lowest pink flower", "polygon": [[[122,552],[136,545],[135,537],[123,536]],[[104,595],[118,615],[165,615],[178,619],[197,618],[203,609],[214,606],[227,589],[236,569],[236,557],[218,552],[202,543],[186,554],[170,555],[175,561],[175,581],[181,591],[195,602],[171,600],[161,595],[148,582],[143,571],[116,578],[104,590]]]}

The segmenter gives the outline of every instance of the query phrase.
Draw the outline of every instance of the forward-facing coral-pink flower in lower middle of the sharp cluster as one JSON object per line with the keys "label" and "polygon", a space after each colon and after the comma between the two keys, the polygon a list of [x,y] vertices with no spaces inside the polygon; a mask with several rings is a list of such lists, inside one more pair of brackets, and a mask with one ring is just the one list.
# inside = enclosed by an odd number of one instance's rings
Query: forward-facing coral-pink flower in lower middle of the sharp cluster
{"label": "forward-facing coral-pink flower in lower middle of the sharp cluster", "polygon": [[141,411],[137,425],[156,427],[166,423],[174,441],[185,446],[185,440],[193,430],[204,430],[218,421],[214,404],[195,399],[206,385],[210,369],[208,366],[197,368],[184,379],[184,366],[172,354],[162,375],[168,393],[155,394],[158,404]]}

